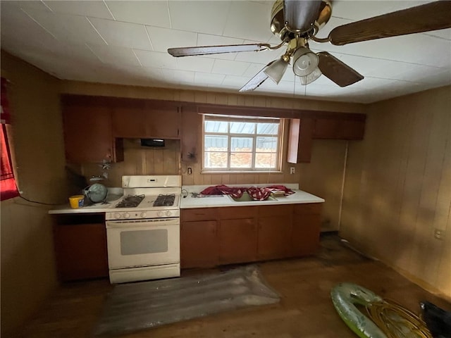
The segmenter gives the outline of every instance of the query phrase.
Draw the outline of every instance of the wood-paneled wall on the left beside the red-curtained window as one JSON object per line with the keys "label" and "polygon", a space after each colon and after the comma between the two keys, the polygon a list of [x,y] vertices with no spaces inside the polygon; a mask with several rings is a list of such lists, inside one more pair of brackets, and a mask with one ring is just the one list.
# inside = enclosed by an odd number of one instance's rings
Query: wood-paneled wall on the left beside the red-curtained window
{"label": "wood-paneled wall on the left beside the red-curtained window", "polygon": [[[11,81],[11,140],[20,191],[33,201],[65,203],[59,81],[3,51],[1,76]],[[18,197],[1,202],[2,337],[56,287],[49,208]]]}

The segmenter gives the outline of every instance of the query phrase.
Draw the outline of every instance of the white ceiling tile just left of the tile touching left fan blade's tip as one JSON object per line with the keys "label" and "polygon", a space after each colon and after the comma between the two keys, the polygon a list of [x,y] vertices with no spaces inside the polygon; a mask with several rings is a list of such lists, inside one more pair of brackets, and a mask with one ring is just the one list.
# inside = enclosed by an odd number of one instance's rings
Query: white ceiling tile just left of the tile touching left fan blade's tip
{"label": "white ceiling tile just left of the tile touching left fan blade's tip", "polygon": [[98,18],[89,18],[89,21],[109,45],[152,51],[144,25]]}

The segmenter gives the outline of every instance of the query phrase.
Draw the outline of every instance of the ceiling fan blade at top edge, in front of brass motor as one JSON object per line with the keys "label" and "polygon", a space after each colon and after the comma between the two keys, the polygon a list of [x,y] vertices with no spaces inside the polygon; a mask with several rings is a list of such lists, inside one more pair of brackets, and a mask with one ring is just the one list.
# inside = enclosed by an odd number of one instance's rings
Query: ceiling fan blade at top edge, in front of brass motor
{"label": "ceiling fan blade at top edge, in front of brass motor", "polygon": [[319,17],[320,0],[285,0],[283,15],[288,30],[308,32]]}

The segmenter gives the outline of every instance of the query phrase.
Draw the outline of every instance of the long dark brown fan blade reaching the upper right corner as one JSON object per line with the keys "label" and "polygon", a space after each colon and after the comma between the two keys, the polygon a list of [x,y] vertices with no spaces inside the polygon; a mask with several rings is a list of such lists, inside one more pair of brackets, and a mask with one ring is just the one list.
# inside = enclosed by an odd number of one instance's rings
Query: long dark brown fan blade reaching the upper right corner
{"label": "long dark brown fan blade reaching the upper right corner", "polygon": [[451,1],[435,1],[335,27],[329,39],[330,43],[342,46],[450,27]]}

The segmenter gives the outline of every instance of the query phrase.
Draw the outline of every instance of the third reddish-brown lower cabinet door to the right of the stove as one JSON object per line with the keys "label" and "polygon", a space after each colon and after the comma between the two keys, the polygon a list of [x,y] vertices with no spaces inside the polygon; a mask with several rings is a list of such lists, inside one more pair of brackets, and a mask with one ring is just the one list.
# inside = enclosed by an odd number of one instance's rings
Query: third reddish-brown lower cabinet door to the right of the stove
{"label": "third reddish-brown lower cabinet door to the right of the stove", "polygon": [[291,215],[259,218],[259,259],[290,256],[291,220]]}

